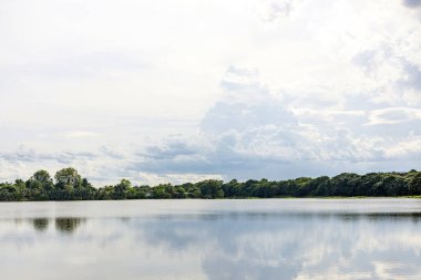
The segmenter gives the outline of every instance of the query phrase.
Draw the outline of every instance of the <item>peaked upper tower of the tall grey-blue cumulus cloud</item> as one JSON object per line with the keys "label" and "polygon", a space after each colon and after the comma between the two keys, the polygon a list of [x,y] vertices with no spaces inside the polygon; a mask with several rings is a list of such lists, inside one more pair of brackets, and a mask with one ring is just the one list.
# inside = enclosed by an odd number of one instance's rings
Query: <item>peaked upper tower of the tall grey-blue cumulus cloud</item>
{"label": "peaked upper tower of the tall grey-blue cumulus cloud", "polygon": [[222,89],[223,98],[202,120],[205,132],[243,132],[268,125],[297,125],[291,112],[283,106],[279,98],[270,95],[254,71],[229,66]]}

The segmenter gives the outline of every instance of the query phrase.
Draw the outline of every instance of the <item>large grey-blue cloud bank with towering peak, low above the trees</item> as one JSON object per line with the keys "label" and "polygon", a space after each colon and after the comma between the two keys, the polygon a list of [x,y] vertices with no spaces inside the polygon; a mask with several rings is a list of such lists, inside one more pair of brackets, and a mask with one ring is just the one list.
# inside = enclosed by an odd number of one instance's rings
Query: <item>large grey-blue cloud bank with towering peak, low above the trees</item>
{"label": "large grey-blue cloud bank with towering peak, low above the trees", "polygon": [[414,144],[407,141],[411,133],[415,142],[421,141],[418,108],[294,112],[288,108],[294,100],[284,104],[260,84],[256,72],[234,66],[222,87],[225,97],[203,118],[202,134],[150,146],[131,168],[278,179],[387,169],[393,160],[407,160],[407,167],[415,159]]}

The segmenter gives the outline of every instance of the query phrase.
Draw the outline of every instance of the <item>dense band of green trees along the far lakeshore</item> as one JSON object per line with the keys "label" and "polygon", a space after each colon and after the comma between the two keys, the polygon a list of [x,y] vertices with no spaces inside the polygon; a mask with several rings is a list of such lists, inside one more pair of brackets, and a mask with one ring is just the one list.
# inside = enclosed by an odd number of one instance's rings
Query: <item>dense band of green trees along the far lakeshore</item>
{"label": "dense band of green trees along the far lakeshore", "polygon": [[0,183],[1,201],[27,200],[106,200],[106,199],[160,199],[160,198],[270,198],[270,197],[327,197],[327,196],[419,196],[421,172],[369,173],[358,175],[342,173],[335,177],[300,177],[288,180],[209,179],[182,185],[132,186],[122,179],[114,186],[94,188],[74,168],[55,173],[39,170],[28,180]]}

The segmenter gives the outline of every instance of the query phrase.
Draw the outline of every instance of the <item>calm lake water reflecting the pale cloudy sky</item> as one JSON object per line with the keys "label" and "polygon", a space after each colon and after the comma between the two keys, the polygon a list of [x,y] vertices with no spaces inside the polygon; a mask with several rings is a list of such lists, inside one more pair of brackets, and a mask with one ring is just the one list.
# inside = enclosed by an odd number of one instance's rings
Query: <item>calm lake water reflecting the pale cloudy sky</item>
{"label": "calm lake water reflecting the pale cloudy sky", "polygon": [[0,279],[421,279],[421,199],[3,203]]}

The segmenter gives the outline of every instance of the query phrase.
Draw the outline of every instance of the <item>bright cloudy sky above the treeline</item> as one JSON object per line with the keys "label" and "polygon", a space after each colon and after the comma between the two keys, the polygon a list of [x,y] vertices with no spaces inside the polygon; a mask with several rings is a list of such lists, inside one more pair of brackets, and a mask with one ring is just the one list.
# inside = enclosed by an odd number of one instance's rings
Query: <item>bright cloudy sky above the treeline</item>
{"label": "bright cloudy sky above the treeline", "polygon": [[0,182],[421,169],[420,0],[2,0]]}

